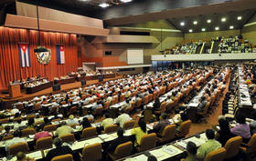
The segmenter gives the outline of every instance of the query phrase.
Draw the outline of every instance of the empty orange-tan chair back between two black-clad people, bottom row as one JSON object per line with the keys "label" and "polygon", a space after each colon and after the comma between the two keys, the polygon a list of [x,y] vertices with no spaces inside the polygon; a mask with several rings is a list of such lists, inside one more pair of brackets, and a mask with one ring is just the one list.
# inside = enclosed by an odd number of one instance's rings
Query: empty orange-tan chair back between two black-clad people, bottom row
{"label": "empty orange-tan chair back between two black-clad people, bottom row", "polygon": [[85,146],[82,149],[83,161],[100,161],[102,159],[101,143]]}

